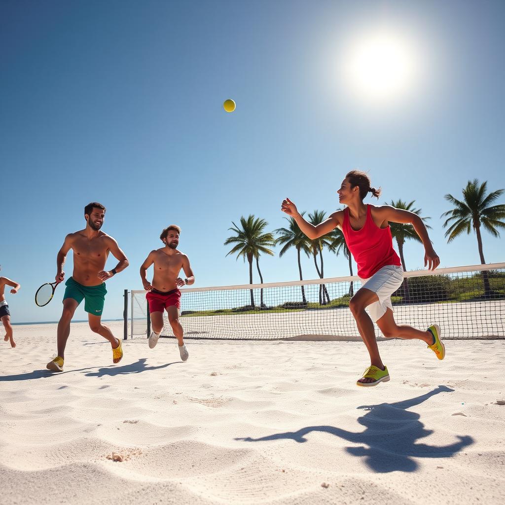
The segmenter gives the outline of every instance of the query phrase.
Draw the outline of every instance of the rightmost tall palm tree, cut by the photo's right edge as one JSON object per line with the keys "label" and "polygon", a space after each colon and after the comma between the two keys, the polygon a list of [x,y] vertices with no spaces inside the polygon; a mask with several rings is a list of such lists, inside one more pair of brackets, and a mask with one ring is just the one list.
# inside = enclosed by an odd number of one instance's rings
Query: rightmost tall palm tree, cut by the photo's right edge
{"label": "rightmost tall palm tree, cut by the photo's right edge", "polygon": [[[500,219],[505,218],[505,205],[491,205],[499,198],[505,189],[497,189],[486,195],[487,181],[482,184],[477,179],[468,181],[463,188],[463,201],[458,200],[451,194],[446,194],[445,199],[455,206],[454,209],[444,212],[441,217],[447,217],[443,224],[444,228],[449,227],[445,232],[447,243],[461,235],[464,231],[470,234],[472,228],[477,235],[477,245],[479,247],[480,263],[484,265],[484,250],[482,248],[481,226],[487,230],[493,237],[499,237],[497,228],[505,228],[505,222]],[[489,287],[488,272],[482,272],[484,281],[484,295],[489,296],[491,289]]]}

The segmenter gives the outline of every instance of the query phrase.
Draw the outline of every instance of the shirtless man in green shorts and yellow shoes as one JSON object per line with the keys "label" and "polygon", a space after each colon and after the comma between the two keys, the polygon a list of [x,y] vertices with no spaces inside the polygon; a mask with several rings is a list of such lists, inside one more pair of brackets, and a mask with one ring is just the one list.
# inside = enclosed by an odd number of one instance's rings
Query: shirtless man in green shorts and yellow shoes
{"label": "shirtless man in green shorts and yellow shoes", "polygon": [[[107,289],[105,282],[112,276],[128,266],[128,259],[119,248],[114,238],[100,231],[105,219],[105,207],[96,201],[84,207],[84,230],[69,233],[58,252],[57,274],[55,279],[62,282],[65,277],[63,265],[67,252],[74,251],[74,272],[65,285],[63,296],[63,314],[58,323],[58,356],[47,363],[47,369],[53,372],[63,372],[65,358],[65,345],[70,334],[70,321],[80,302],[84,300],[84,310],[88,313],[89,327],[95,333],[102,335],[111,342],[112,358],[114,363],[119,363],[123,358],[121,340],[115,338],[109,327],[102,324],[102,311],[104,309]],[[109,252],[119,263],[110,271],[105,271],[105,263]]]}

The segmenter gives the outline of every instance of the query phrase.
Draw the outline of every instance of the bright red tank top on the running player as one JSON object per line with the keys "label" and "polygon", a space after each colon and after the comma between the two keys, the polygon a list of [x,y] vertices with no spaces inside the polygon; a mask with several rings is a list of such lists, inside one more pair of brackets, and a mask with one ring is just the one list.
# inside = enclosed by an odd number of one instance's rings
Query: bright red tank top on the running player
{"label": "bright red tank top on the running player", "polygon": [[386,265],[401,266],[400,258],[393,249],[391,228],[379,228],[367,205],[367,219],[361,230],[353,230],[349,221],[349,209],[344,209],[342,232],[352,256],[358,264],[358,275],[368,279]]}

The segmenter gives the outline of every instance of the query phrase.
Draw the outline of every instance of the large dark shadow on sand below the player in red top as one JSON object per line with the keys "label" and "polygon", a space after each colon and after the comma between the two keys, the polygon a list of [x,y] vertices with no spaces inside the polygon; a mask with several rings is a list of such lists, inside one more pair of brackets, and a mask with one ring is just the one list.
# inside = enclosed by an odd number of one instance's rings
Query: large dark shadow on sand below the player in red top
{"label": "large dark shadow on sand below the player in red top", "polygon": [[246,442],[265,440],[292,439],[296,442],[307,442],[307,435],[313,431],[329,433],[349,442],[363,444],[360,447],[346,447],[354,456],[362,456],[365,463],[374,472],[413,472],[418,464],[412,458],[450,458],[456,452],[474,443],[471,436],[460,436],[457,442],[450,445],[429,445],[418,443],[421,438],[433,433],[420,422],[419,414],[408,411],[431,396],[441,392],[453,391],[446,386],[438,386],[432,391],[408,400],[379,405],[362,405],[367,413],[358,422],[365,426],[361,432],[351,432],[334,426],[308,426],[298,431],[276,433],[261,438],[235,438]]}

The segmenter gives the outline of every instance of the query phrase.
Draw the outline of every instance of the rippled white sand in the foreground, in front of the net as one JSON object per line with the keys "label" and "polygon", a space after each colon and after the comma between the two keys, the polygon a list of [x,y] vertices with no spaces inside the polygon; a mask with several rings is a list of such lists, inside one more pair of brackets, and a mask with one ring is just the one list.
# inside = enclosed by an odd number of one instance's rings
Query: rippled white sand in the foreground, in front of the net
{"label": "rippled white sand in the foreground, in front of the net", "polygon": [[2,505],[505,499],[504,340],[383,341],[391,381],[358,388],[361,342],[136,339],[113,365],[78,323],[51,374],[55,335],[0,347]]}

